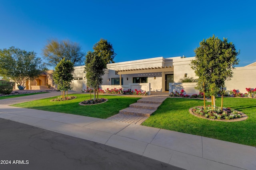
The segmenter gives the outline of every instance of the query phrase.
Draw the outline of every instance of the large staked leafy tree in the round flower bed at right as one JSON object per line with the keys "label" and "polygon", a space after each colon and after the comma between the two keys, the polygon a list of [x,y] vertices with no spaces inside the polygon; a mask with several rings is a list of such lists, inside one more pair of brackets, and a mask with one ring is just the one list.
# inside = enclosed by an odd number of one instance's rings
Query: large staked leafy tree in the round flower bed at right
{"label": "large staked leafy tree in the round flower bed at right", "polygon": [[[224,88],[225,81],[233,76],[233,69],[239,60],[239,51],[227,38],[223,41],[214,35],[200,42],[200,47],[194,50],[196,59],[191,61],[191,68],[198,76],[196,89],[203,91],[213,98],[220,89]],[[203,85],[204,84],[204,85]],[[222,95],[223,101],[223,95]],[[204,101],[205,105],[205,101]]]}

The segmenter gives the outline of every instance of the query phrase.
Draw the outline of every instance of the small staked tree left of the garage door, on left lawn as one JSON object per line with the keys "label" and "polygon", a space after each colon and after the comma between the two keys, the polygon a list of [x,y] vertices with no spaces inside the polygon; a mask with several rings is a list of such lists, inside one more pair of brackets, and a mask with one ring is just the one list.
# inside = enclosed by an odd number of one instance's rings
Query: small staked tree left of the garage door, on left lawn
{"label": "small staked tree left of the garage door, on left lawn", "polygon": [[53,72],[53,79],[58,84],[58,89],[63,92],[62,98],[65,98],[64,92],[67,92],[68,97],[68,90],[71,90],[70,82],[73,80],[73,72],[74,72],[74,64],[71,61],[66,60],[65,58],[60,61],[55,67]]}

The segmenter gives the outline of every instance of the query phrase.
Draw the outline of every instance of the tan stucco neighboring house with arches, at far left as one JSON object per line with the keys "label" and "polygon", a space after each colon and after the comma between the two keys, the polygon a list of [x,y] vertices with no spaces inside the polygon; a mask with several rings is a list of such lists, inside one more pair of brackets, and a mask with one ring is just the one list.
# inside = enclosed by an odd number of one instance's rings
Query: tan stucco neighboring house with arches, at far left
{"label": "tan stucco neighboring house with arches, at far left", "polygon": [[[26,88],[24,90],[46,90],[49,88],[54,89],[55,85],[53,83],[52,74],[53,70],[48,70],[46,72],[43,72],[35,80],[26,81]],[[18,86],[15,85],[15,89],[18,89]]]}

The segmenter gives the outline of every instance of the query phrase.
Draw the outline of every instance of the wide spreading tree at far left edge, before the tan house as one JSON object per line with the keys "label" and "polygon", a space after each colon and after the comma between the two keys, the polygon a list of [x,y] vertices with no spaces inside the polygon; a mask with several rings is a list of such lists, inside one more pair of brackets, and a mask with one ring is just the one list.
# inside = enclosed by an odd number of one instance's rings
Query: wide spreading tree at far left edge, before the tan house
{"label": "wide spreading tree at far left edge, before the tan house", "polygon": [[23,90],[27,80],[34,80],[45,66],[34,51],[10,47],[0,49],[0,76],[10,78]]}

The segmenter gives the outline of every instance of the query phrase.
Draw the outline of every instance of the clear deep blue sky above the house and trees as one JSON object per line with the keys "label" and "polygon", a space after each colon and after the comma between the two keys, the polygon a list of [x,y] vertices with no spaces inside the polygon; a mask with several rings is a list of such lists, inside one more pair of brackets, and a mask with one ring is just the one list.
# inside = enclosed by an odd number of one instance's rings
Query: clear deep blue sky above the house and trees
{"label": "clear deep blue sky above the house and trees", "polygon": [[103,38],[122,62],[192,57],[214,34],[234,43],[245,66],[256,62],[255,7],[255,0],[0,0],[0,49],[41,57],[48,39],[68,39],[86,53]]}

